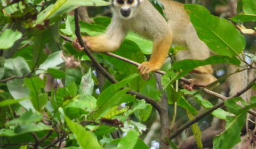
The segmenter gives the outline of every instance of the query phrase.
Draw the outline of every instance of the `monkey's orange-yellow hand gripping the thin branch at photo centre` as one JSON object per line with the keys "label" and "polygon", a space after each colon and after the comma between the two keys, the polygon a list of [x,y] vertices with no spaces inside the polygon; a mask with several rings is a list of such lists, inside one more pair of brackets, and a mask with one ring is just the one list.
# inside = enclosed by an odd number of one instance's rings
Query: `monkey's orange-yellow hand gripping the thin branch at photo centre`
{"label": "monkey's orange-yellow hand gripping the thin branch at photo centre", "polygon": [[149,72],[158,70],[159,68],[160,67],[158,67],[156,64],[150,62],[143,62],[138,67],[141,77],[145,80],[149,79]]}

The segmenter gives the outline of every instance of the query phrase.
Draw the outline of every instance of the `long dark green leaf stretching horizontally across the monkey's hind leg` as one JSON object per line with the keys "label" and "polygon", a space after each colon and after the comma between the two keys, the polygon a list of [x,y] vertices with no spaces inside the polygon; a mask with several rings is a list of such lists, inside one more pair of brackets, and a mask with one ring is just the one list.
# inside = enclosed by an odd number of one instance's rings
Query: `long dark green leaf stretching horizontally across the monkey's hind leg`
{"label": "long dark green leaf stretching horizontally across the monkey's hind leg", "polygon": [[205,60],[178,61],[173,63],[172,68],[178,72],[182,70],[177,76],[177,79],[179,79],[199,66],[208,65],[208,64],[218,64],[218,63],[228,63],[228,64],[239,65],[241,62],[236,57],[213,55]]}

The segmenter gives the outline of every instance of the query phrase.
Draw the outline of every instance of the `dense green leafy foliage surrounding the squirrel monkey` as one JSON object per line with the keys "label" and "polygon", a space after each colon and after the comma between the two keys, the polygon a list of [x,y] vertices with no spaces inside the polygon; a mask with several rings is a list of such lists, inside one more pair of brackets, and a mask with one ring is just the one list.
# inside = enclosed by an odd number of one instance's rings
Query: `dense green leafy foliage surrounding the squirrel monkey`
{"label": "dense green leafy foliage surrounding the squirrel monkey", "polygon": [[[217,97],[201,96],[205,95],[202,89],[182,89],[178,80],[201,65],[239,66],[243,59],[235,56],[245,49],[249,62],[241,65],[241,70],[255,73],[256,57],[249,53],[254,53],[256,47],[256,1],[239,2],[239,14],[230,19],[251,28],[238,26],[244,36],[229,19],[213,16],[201,5],[186,4],[198,37],[218,55],[203,61],[175,62],[173,55],[186,47],[172,47],[171,62],[163,66],[166,73],[162,77],[151,73],[149,80],[143,80],[135,65],[94,53],[117,80],[115,84],[103,77],[95,63],[70,42],[76,37],[71,11],[79,5],[108,4],[102,0],[0,1],[0,148],[149,148],[152,140],[165,143],[161,139],[177,148],[181,140],[193,134],[197,146],[203,148],[201,131],[214,118],[226,121],[225,130],[211,140],[214,148],[231,148],[239,143],[246,114],[256,107],[255,96],[248,102],[241,97],[231,98],[225,101],[226,108],[221,109],[222,102],[217,104]],[[97,7],[90,9],[97,11]],[[111,18],[98,16],[93,21],[79,22],[82,34],[102,34]],[[114,53],[141,63],[151,48],[151,41],[129,32]],[[225,69],[219,72],[223,73],[216,74],[218,82],[223,83]],[[252,83],[248,89],[254,87]],[[129,90],[133,90],[132,94],[127,94]],[[162,104],[165,100],[169,105]],[[236,104],[238,101],[242,104]],[[169,112],[169,117],[164,112]],[[154,128],[159,121],[161,126]],[[191,124],[184,129],[191,129],[180,135],[182,131],[178,132],[178,128],[188,121]],[[170,136],[162,133],[161,138],[159,129],[167,132],[169,128]],[[148,137],[149,141],[143,141]]]}

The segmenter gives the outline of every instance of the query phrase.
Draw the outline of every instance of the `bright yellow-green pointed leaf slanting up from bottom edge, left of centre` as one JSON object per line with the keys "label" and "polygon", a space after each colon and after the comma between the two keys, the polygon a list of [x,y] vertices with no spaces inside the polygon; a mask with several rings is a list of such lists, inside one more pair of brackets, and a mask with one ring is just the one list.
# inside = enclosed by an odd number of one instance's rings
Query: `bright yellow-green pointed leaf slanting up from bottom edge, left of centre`
{"label": "bright yellow-green pointed leaf slanting up from bottom edge, left of centre", "polygon": [[90,132],[86,131],[83,126],[79,125],[76,122],[71,121],[66,116],[65,116],[65,121],[67,122],[69,129],[72,131],[72,133],[74,133],[78,144],[83,149],[87,149],[87,148],[100,149],[100,148],[102,148],[100,146],[100,144],[98,143],[97,139]]}

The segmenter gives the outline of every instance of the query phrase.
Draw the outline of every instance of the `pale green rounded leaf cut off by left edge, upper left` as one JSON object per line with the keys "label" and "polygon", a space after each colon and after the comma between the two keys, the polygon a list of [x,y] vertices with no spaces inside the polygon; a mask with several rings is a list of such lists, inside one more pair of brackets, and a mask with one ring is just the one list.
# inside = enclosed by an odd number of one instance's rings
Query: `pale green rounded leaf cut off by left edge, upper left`
{"label": "pale green rounded leaf cut off by left edge, upper left", "polygon": [[0,36],[0,49],[12,47],[21,36],[22,34],[18,30],[5,29]]}

